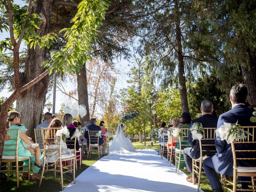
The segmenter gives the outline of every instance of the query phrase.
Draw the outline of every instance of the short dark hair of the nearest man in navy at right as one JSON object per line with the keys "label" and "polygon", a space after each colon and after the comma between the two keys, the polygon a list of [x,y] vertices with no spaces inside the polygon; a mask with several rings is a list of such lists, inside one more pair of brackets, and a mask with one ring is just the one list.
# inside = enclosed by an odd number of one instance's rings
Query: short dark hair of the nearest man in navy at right
{"label": "short dark hair of the nearest man in navy at right", "polygon": [[232,102],[236,103],[246,103],[248,90],[246,86],[242,83],[235,84],[230,90],[230,95],[232,96]]}

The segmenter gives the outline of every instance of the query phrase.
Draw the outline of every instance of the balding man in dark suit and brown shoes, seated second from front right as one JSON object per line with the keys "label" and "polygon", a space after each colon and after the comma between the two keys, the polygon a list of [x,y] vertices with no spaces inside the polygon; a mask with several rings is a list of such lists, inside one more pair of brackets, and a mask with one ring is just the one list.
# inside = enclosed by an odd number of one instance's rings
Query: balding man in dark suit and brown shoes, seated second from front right
{"label": "balding man in dark suit and brown shoes, seated second from front right", "polygon": [[[200,110],[202,112],[202,116],[192,120],[192,124],[195,122],[201,123],[204,128],[216,128],[218,118],[212,116],[213,112],[213,104],[210,100],[203,100],[201,103]],[[210,134],[210,133],[209,133]],[[188,172],[192,175],[192,159],[198,159],[200,157],[200,146],[199,140],[193,140],[191,132],[188,134],[188,144],[190,147],[185,148],[183,150],[184,153],[184,160],[186,162],[186,166],[188,168]],[[214,144],[214,140],[202,140],[202,144]],[[215,150],[215,147],[209,146],[204,148],[203,150]],[[214,153],[204,153],[204,155],[212,156]],[[187,177],[186,180],[192,183],[192,177]],[[195,174],[195,183],[198,182],[198,178]]]}

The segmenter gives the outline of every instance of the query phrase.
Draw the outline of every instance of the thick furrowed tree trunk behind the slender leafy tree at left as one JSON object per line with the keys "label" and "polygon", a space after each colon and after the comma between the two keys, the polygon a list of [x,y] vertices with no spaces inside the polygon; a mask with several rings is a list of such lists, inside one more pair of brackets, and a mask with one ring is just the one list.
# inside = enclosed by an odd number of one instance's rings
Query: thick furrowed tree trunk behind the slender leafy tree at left
{"label": "thick furrowed tree trunk behind the slender leafy tree at left", "polygon": [[[36,1],[32,6],[32,12],[40,14],[43,22],[40,29],[36,31],[39,36],[44,36],[48,33],[50,26],[50,16],[52,12],[53,0]],[[41,63],[46,60],[46,49],[30,49],[28,45],[28,53],[25,64],[25,82],[26,84],[39,76],[45,69]],[[40,123],[42,115],[42,107],[45,102],[45,97],[48,89],[48,76],[23,92],[17,99],[16,110],[21,114],[21,122],[28,129],[28,136],[34,138],[34,128]]]}

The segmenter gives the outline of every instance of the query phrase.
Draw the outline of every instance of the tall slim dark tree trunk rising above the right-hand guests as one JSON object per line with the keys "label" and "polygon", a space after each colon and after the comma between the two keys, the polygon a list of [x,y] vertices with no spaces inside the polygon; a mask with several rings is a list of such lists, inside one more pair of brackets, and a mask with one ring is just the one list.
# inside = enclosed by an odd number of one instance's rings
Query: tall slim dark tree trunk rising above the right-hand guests
{"label": "tall slim dark tree trunk rising above the right-hand guests", "polygon": [[186,88],[186,77],[184,72],[184,56],[182,55],[182,40],[180,30],[180,11],[178,7],[178,1],[174,1],[175,8],[175,26],[176,26],[176,42],[177,42],[177,58],[178,58],[178,77],[179,77],[179,88],[180,88],[180,102],[182,112],[189,112],[188,109],[188,96]]}

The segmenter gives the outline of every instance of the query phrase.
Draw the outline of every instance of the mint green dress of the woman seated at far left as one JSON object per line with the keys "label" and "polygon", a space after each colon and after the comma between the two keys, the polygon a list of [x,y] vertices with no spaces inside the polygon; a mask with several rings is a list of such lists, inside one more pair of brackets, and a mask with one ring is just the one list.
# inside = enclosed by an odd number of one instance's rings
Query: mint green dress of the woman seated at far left
{"label": "mint green dress of the woman seated at far left", "polygon": [[[20,129],[20,134],[21,132],[26,132],[25,126],[16,126],[12,125],[9,127],[9,129]],[[16,132],[16,131],[15,131]],[[17,134],[17,132],[16,132]],[[32,169],[33,173],[38,173],[40,168],[37,166],[34,166],[35,160],[35,155],[32,155],[29,150],[27,150],[23,145],[22,145],[23,140],[20,138],[19,135],[19,140],[18,140],[18,157],[30,157],[30,168]],[[8,140],[5,141],[4,144],[15,144],[16,141],[14,140]],[[15,150],[15,146],[4,146],[4,150]],[[15,156],[15,151],[4,151],[3,156]],[[41,157],[41,153],[39,153],[39,159]],[[23,165],[28,164],[28,160],[23,161]],[[27,170],[26,167],[23,167],[23,170]]]}

